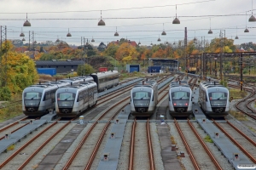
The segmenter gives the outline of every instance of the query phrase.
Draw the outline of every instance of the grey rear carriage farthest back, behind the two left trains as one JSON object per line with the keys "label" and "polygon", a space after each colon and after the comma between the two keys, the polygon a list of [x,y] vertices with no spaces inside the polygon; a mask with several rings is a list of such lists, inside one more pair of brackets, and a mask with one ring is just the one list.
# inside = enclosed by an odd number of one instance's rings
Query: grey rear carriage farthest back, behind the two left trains
{"label": "grey rear carriage farthest back, behind the two left trains", "polygon": [[118,71],[98,72],[90,75],[97,84],[98,92],[113,88],[119,84]]}

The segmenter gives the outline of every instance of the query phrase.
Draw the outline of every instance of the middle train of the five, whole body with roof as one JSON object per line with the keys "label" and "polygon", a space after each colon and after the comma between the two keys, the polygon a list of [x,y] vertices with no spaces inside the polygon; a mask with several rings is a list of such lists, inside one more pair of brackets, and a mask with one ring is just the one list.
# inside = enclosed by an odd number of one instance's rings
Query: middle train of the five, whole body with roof
{"label": "middle train of the five, whole body with roof", "polygon": [[158,103],[158,83],[143,81],[131,89],[131,115],[151,116]]}

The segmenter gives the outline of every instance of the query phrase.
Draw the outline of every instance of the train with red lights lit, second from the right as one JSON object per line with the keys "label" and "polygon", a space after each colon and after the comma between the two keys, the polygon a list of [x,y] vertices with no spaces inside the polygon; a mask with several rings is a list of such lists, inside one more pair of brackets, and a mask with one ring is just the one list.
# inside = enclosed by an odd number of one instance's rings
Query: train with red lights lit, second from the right
{"label": "train with red lights lit, second from the right", "polygon": [[189,116],[192,111],[192,90],[187,81],[172,82],[169,86],[169,113],[171,116]]}

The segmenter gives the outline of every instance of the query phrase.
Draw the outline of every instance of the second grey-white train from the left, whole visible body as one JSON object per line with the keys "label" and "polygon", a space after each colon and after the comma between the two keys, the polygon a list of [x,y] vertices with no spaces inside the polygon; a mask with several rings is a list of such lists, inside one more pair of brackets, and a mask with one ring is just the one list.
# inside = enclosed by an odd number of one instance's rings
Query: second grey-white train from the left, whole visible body
{"label": "second grey-white train from the left, whole visible body", "polygon": [[81,82],[57,89],[55,111],[61,117],[79,116],[83,111],[97,103],[96,82]]}

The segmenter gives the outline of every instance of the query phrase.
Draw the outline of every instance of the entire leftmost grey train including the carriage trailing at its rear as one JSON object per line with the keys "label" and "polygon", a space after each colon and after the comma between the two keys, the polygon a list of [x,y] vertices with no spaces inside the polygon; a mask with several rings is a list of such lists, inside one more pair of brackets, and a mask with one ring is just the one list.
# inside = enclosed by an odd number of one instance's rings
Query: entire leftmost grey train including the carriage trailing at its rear
{"label": "entire leftmost grey train including the carriage trailing at its rear", "polygon": [[119,84],[118,71],[93,73],[84,77],[73,77],[56,82],[31,85],[23,90],[22,111],[26,116],[43,116],[55,110],[55,92],[58,88],[76,83],[96,82],[97,93]]}

